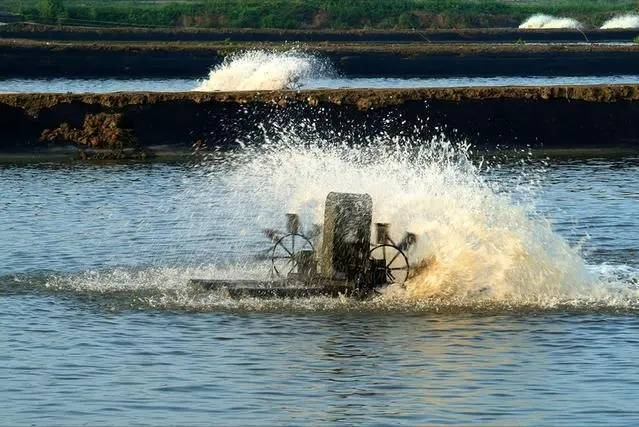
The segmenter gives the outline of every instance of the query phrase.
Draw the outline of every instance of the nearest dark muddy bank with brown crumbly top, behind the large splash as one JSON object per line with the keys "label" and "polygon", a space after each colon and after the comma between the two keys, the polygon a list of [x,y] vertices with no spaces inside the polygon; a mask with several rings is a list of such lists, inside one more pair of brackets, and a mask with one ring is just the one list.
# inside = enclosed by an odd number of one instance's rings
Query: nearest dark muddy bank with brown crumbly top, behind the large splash
{"label": "nearest dark muddy bank with brown crumbly top, behind the large splash", "polygon": [[[477,149],[639,152],[639,86],[0,94],[0,154],[148,158],[259,143],[276,123],[359,143],[444,133]],[[262,126],[263,125],[263,126]],[[337,132],[342,136],[337,137]],[[345,136],[344,136],[345,135]]]}

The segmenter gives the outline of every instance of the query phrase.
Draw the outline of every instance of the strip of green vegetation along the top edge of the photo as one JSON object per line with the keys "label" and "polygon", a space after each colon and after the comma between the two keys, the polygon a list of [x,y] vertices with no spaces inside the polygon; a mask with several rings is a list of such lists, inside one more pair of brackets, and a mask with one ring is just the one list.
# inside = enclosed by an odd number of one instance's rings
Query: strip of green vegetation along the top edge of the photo
{"label": "strip of green vegetation along the top edge of the photo", "polygon": [[517,27],[536,13],[586,27],[637,0],[3,0],[0,11],[49,24],[200,28],[465,29]]}

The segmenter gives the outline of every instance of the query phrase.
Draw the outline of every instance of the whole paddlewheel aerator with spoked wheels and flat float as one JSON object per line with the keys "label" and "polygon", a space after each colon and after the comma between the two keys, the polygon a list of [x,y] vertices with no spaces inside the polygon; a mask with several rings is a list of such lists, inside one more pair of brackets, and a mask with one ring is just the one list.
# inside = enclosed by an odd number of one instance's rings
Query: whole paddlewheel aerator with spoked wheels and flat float
{"label": "whole paddlewheel aerator with spoked wheels and flat float", "polygon": [[[366,298],[382,287],[403,284],[410,274],[406,253],[416,242],[405,233],[397,244],[389,224],[375,224],[371,243],[373,202],[368,194],[329,193],[326,197],[321,244],[300,231],[297,214],[286,215],[286,231],[266,230],[271,278],[255,280],[191,279],[191,284],[227,292],[231,297],[286,298],[353,296]],[[319,237],[319,236],[317,236]]]}

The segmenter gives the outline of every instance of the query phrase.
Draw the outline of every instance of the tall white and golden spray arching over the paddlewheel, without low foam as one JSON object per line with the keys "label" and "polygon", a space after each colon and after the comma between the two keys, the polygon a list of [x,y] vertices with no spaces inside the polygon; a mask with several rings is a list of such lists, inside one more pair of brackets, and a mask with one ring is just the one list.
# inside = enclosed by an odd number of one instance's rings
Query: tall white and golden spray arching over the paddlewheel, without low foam
{"label": "tall white and golden spray arching over the paddlewheel, without low foam", "polygon": [[270,205],[269,212],[285,207],[313,223],[322,221],[328,192],[370,194],[373,221],[391,223],[395,241],[405,231],[418,236],[409,254],[416,268],[406,284],[409,299],[530,301],[578,295],[596,281],[529,195],[514,201],[533,184],[512,189],[489,182],[467,145],[443,136],[377,134],[355,146],[297,139],[284,132],[268,141],[234,175],[233,186]]}

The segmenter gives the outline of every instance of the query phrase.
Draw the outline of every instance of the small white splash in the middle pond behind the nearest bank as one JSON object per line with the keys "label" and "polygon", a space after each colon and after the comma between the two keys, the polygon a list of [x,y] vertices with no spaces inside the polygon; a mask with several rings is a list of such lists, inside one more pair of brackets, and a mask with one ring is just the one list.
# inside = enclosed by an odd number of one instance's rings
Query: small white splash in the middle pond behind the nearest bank
{"label": "small white splash in the middle pond behind the nearest bank", "polygon": [[231,55],[200,82],[198,91],[280,90],[333,74],[330,64],[300,50],[251,50]]}

